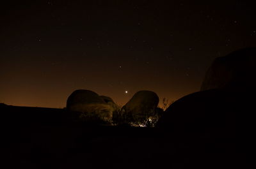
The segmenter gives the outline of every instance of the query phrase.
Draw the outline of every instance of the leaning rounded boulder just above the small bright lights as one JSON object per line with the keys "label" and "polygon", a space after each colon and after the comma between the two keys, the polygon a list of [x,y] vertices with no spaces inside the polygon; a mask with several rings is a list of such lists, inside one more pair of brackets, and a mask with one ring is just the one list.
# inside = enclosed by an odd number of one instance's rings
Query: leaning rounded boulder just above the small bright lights
{"label": "leaning rounded boulder just above the small bright lights", "polygon": [[122,107],[122,116],[126,121],[142,122],[148,117],[154,116],[159,103],[159,98],[152,91],[138,91]]}

